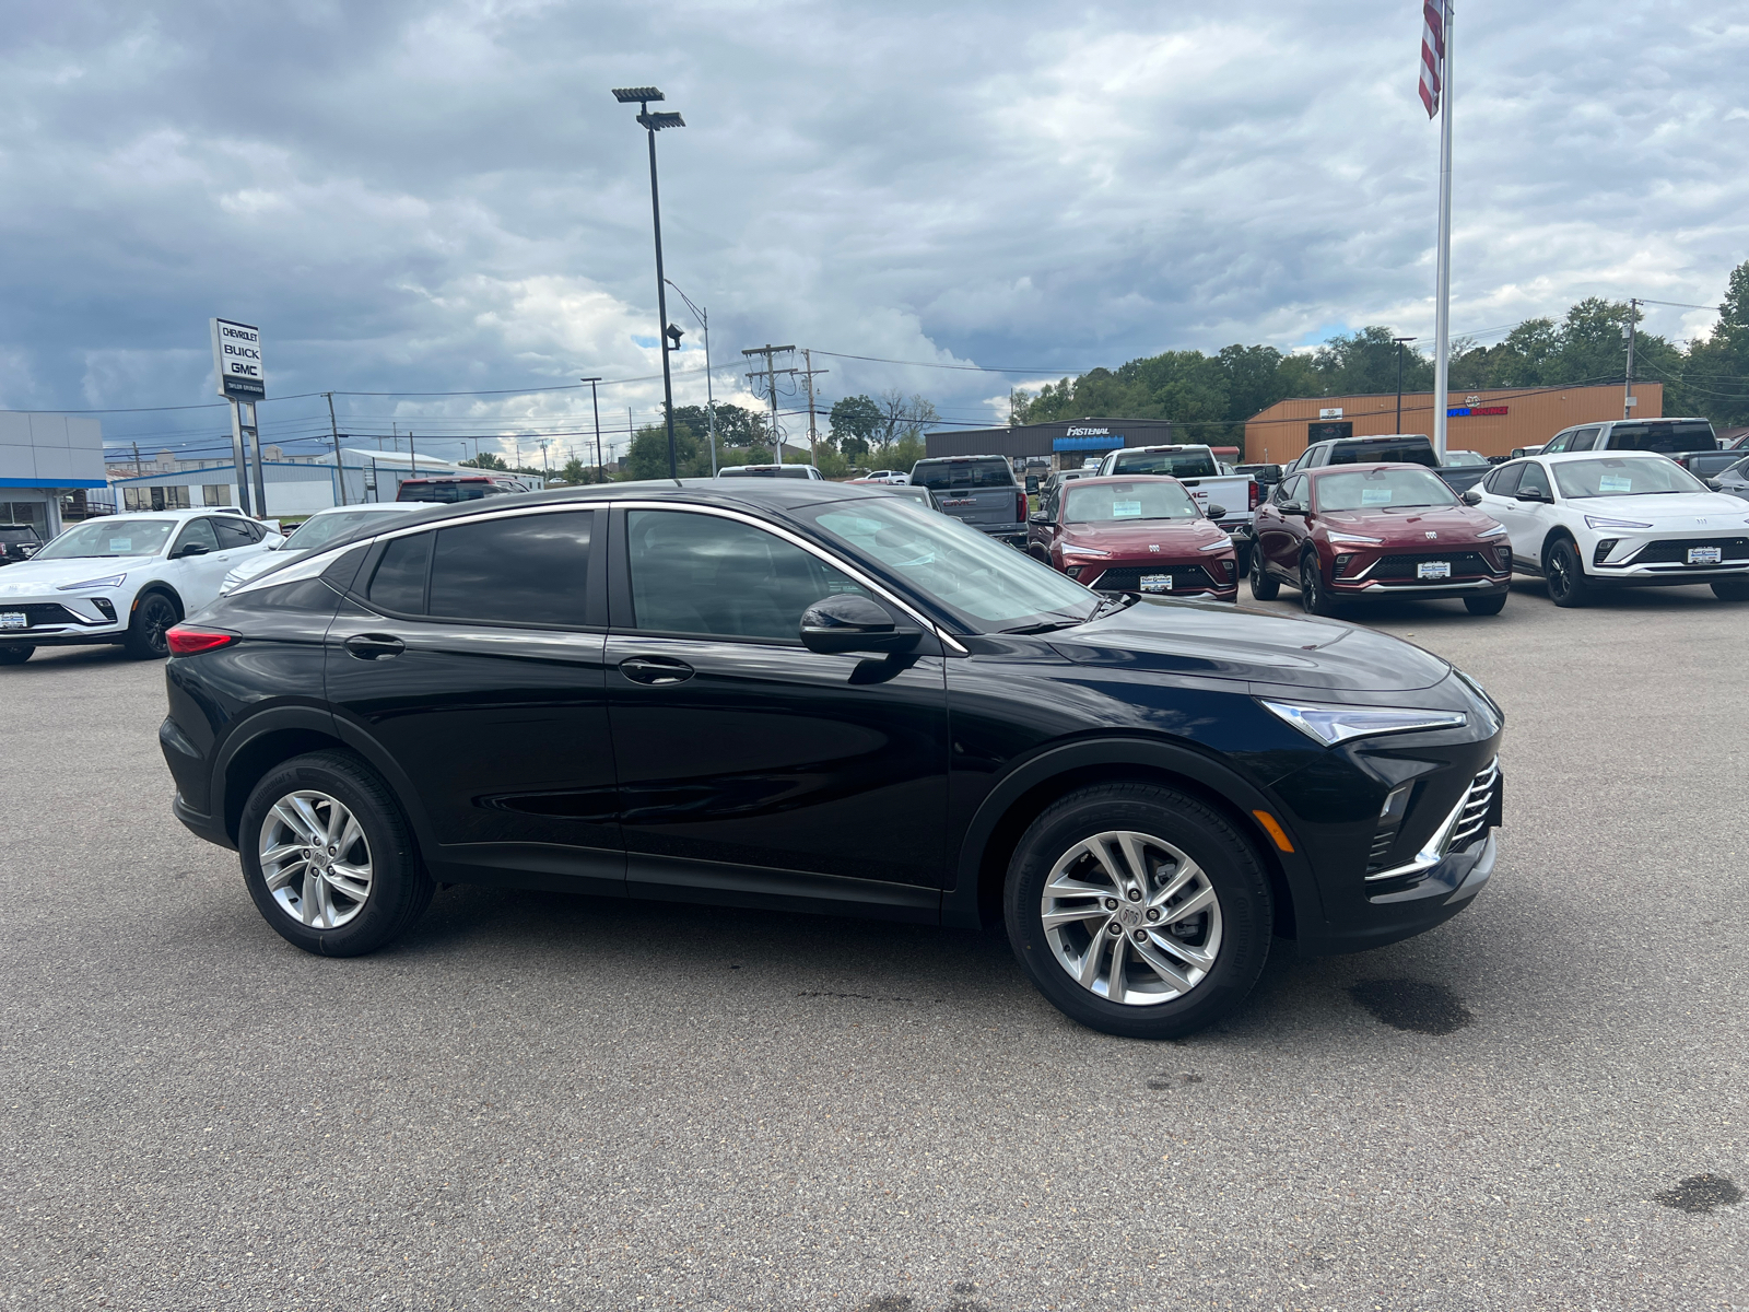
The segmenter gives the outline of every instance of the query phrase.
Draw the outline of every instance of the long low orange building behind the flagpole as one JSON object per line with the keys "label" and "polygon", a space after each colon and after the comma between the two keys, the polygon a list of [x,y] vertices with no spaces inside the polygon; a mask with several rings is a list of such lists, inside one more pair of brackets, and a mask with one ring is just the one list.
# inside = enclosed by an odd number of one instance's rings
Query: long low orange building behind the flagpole
{"label": "long low orange building behind the flagpole", "polygon": [[[1663,383],[1635,383],[1634,418],[1663,418]],[[1621,418],[1623,390],[1609,387],[1452,388],[1446,443],[1453,451],[1508,455],[1537,446],[1571,423]],[[1387,432],[1432,436],[1432,392],[1359,397],[1291,397],[1245,420],[1245,460],[1287,464],[1326,437],[1378,437]]]}

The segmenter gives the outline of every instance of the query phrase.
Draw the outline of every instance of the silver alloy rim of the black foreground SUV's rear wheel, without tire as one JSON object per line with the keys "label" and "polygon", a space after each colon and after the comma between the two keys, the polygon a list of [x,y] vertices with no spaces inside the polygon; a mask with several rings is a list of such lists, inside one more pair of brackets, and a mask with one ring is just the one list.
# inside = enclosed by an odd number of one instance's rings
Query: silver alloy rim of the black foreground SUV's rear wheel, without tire
{"label": "silver alloy rim of the black foreground SUV's rear wheel, without tire", "polygon": [[287,792],[261,826],[261,876],[285,915],[311,929],[350,924],[371,897],[371,845],[327,792]]}

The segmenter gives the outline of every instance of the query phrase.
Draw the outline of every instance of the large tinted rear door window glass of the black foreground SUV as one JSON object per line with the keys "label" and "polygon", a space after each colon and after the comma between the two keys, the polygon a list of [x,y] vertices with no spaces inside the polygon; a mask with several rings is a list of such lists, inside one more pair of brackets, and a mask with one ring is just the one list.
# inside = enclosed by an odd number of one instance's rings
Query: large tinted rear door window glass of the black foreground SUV
{"label": "large tinted rear door window glass of the black foreground SUV", "polygon": [[429,612],[502,625],[582,625],[593,520],[595,511],[567,511],[439,528]]}

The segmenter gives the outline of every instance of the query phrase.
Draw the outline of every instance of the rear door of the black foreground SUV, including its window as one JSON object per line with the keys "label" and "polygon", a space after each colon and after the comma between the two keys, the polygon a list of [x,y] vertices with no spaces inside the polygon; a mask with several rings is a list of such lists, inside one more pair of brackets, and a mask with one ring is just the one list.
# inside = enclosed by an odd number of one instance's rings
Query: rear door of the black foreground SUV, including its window
{"label": "rear door of the black foreground SUV, including its window", "polygon": [[605,511],[558,506],[401,530],[334,616],[327,700],[415,794],[434,866],[624,890],[603,528]]}

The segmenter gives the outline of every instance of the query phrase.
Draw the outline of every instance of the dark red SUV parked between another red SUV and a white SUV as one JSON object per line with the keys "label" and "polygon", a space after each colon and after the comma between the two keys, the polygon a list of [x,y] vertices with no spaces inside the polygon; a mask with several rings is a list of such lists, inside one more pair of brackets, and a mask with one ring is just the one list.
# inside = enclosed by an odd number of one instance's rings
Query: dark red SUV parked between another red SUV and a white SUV
{"label": "dark red SUV parked between another red SUV and a white SUV", "polygon": [[1497,616],[1513,581],[1506,528],[1422,465],[1327,465],[1289,474],[1258,507],[1251,595],[1284,583],[1327,616],[1348,597],[1462,597]]}

